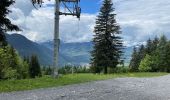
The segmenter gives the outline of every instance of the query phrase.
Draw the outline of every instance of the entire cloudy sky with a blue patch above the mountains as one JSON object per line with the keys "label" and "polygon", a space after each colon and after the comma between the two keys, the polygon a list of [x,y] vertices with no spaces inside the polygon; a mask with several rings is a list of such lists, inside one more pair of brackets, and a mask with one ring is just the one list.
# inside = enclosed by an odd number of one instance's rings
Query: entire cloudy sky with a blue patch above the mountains
{"label": "entire cloudy sky with a blue patch above the mountains", "polygon": [[[165,34],[170,38],[170,0],[113,0],[116,20],[125,46],[144,43],[148,38]],[[17,32],[35,42],[53,40],[54,0],[44,0],[35,9],[30,0],[16,0],[9,18],[23,31]],[[81,0],[80,21],[60,16],[60,38],[64,42],[89,42],[93,38],[95,19],[102,0]],[[13,33],[13,32],[12,32]]]}

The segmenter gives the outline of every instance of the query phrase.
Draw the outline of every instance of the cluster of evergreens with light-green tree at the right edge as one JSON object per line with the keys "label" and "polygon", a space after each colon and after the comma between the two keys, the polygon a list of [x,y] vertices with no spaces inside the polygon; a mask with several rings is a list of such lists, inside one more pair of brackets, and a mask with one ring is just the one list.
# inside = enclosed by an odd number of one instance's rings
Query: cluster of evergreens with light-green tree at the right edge
{"label": "cluster of evergreens with light-green tree at the right edge", "polygon": [[162,35],[134,47],[129,67],[133,72],[170,72],[170,41]]}

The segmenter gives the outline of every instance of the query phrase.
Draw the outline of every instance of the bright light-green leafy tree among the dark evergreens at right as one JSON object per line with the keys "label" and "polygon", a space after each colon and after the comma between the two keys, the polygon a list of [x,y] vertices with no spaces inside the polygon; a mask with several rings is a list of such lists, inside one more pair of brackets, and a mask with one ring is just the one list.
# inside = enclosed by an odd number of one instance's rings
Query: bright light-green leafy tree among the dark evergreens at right
{"label": "bright light-green leafy tree among the dark evergreens at right", "polygon": [[146,55],[139,65],[139,71],[149,72],[152,69],[152,58],[150,55]]}

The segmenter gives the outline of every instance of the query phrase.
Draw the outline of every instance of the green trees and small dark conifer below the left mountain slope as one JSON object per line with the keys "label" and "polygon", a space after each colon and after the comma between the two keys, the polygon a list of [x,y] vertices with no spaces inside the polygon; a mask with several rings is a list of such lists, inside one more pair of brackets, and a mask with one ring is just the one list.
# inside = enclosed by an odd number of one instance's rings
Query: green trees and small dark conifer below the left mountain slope
{"label": "green trees and small dark conifer below the left mountain slope", "polygon": [[10,46],[0,48],[0,79],[26,79],[41,76],[37,56],[22,59],[16,50]]}

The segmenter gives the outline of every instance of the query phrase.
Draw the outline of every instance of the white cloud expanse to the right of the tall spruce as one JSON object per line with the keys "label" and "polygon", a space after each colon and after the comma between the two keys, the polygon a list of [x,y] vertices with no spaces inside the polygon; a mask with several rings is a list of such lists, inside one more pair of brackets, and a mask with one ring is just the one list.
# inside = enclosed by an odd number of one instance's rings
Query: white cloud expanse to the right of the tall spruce
{"label": "white cloud expanse to the right of the tall spruce", "polygon": [[116,0],[115,7],[125,40],[142,42],[162,33],[170,38],[169,0]]}

